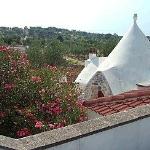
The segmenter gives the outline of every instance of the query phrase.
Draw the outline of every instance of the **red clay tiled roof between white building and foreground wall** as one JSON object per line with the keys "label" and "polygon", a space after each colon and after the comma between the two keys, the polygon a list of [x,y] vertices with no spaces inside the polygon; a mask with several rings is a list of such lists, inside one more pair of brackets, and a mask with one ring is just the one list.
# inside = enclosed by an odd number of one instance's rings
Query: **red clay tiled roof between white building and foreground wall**
{"label": "red clay tiled roof between white building and foreground wall", "polygon": [[132,90],[83,102],[83,106],[101,115],[113,114],[146,104],[150,104],[150,90]]}

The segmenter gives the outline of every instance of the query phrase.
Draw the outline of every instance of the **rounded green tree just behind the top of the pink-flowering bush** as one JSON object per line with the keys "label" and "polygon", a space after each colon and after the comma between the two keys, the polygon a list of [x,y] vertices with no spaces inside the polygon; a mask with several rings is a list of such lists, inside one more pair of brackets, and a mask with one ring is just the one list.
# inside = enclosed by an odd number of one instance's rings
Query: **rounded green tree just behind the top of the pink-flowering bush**
{"label": "rounded green tree just behind the top of the pink-flowering bush", "polygon": [[34,66],[43,64],[61,65],[63,59],[63,44],[58,40],[33,40],[27,50],[29,60]]}

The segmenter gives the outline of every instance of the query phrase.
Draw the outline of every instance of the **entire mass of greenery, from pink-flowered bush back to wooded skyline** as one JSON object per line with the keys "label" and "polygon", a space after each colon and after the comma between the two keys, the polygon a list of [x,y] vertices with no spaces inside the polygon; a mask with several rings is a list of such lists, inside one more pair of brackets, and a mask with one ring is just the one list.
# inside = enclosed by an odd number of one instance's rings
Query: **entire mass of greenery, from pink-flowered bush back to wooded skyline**
{"label": "entire mass of greenery, from pink-flowered bush back to wooded skyline", "polygon": [[107,56],[120,38],[58,28],[0,27],[0,45],[26,47],[22,52],[0,46],[0,134],[21,138],[86,120],[72,81],[89,52]]}

